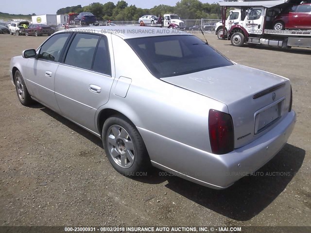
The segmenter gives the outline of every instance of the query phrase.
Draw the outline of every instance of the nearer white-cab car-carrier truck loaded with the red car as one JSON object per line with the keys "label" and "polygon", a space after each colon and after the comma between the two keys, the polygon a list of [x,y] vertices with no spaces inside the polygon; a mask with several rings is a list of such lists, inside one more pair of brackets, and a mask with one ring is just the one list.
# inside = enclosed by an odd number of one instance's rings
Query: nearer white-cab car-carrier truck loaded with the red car
{"label": "nearer white-cab car-carrier truck loaded with the red car", "polygon": [[[276,30],[274,20],[279,12],[294,4],[289,0],[219,2],[222,6],[223,31],[225,32],[225,12],[227,7],[240,8],[240,22],[231,26],[228,40],[233,46],[266,45],[280,48],[311,48],[311,26],[306,29]],[[311,25],[311,22],[310,22]]]}

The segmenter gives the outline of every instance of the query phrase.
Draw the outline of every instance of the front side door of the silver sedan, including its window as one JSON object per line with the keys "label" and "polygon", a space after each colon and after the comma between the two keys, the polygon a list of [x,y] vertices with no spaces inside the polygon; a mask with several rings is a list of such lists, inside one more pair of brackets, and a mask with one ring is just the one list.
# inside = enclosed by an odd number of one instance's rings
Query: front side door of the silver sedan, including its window
{"label": "front side door of the silver sedan, including its window", "polygon": [[26,67],[26,84],[29,93],[39,102],[59,112],[54,93],[55,73],[70,33],[58,33],[50,37],[37,50],[36,58],[30,58]]}

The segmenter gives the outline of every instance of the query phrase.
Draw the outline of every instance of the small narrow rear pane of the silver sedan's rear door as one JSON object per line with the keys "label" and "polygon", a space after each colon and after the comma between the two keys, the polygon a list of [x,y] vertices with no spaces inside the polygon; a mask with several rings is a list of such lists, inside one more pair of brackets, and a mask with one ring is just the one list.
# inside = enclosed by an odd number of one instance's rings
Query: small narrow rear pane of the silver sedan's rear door
{"label": "small narrow rear pane of the silver sedan's rear door", "polygon": [[98,44],[92,69],[97,72],[111,75],[108,43],[107,39],[103,36]]}

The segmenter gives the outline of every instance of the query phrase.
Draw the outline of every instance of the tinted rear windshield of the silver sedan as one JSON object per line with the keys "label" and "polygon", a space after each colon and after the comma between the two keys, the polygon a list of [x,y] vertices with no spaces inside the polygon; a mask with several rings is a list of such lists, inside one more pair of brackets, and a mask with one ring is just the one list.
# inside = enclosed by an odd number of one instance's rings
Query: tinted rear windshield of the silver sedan
{"label": "tinted rear windshield of the silver sedan", "polygon": [[156,78],[194,73],[233,63],[193,35],[167,35],[127,39]]}

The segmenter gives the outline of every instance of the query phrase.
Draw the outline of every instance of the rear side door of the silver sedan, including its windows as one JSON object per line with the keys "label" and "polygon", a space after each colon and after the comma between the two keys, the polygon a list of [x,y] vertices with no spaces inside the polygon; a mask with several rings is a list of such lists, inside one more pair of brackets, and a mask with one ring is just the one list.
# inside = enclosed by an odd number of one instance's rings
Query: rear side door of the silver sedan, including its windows
{"label": "rear side door of the silver sedan, including its windows", "polygon": [[106,36],[76,33],[56,72],[55,96],[62,115],[93,132],[95,113],[108,101],[114,79],[110,57]]}

